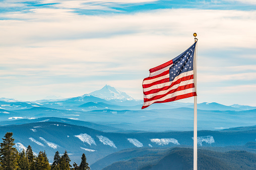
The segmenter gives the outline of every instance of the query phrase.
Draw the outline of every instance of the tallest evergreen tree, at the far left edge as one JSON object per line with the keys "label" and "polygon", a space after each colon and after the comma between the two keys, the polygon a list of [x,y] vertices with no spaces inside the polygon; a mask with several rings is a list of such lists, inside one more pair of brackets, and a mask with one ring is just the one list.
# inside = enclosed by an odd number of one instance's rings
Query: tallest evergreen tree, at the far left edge
{"label": "tallest evergreen tree, at the far left edge", "polygon": [[12,132],[7,132],[4,136],[3,143],[0,144],[0,162],[1,166],[5,170],[16,170],[18,168],[18,151],[15,147],[14,138]]}

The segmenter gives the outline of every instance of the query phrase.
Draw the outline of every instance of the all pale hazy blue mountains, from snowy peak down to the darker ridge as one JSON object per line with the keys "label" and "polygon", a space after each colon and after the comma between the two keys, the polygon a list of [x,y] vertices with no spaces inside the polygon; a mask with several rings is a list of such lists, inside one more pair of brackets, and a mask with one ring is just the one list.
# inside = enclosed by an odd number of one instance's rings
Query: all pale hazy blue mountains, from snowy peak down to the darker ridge
{"label": "all pale hazy blue mountains, from snowy peak down to the darker ridge", "polygon": [[[85,94],[57,101],[0,101],[0,121],[54,116],[102,124],[112,127],[111,130],[193,130],[193,103],[153,104],[141,110],[139,103],[142,101],[108,85],[90,94],[98,97]],[[255,112],[256,107],[251,106],[200,103],[198,129],[252,126],[255,125]]]}

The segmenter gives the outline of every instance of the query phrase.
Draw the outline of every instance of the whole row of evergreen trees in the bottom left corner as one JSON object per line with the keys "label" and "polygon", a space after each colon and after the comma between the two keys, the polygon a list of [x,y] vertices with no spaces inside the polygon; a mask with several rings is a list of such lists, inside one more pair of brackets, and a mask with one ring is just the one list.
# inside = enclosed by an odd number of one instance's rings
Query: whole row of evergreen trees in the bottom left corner
{"label": "whole row of evergreen trees in the bottom left corner", "polygon": [[81,157],[80,165],[74,162],[72,167],[67,150],[62,156],[56,151],[50,165],[45,151],[34,155],[31,146],[28,145],[26,150],[18,152],[12,136],[12,132],[7,132],[0,143],[0,170],[90,170],[85,153]]}

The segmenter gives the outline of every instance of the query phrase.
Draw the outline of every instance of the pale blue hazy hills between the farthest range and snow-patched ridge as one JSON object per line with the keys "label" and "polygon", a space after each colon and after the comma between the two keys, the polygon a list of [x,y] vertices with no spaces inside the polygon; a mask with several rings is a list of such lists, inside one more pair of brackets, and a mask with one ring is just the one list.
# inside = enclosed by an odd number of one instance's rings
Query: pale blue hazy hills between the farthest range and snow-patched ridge
{"label": "pale blue hazy hills between the farthest range and snow-patched ridge", "polygon": [[[218,130],[219,128],[252,126],[255,125],[255,112],[256,110],[198,110],[198,129]],[[184,107],[154,110],[104,109],[92,111],[32,107],[12,111],[1,109],[0,114],[0,121],[54,116],[89,121],[123,130],[193,130],[194,125],[194,109]]]}

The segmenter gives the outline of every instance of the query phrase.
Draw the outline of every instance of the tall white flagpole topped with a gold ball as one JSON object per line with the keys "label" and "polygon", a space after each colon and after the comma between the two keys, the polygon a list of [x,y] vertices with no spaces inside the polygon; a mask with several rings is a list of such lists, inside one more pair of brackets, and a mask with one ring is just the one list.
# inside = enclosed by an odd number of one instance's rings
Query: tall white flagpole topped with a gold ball
{"label": "tall white flagpole topped with a gold ball", "polygon": [[[197,33],[194,33],[195,42],[198,41]],[[194,76],[195,76],[195,89],[197,92],[197,44],[194,53]],[[194,170],[198,169],[198,96],[194,96]]]}

